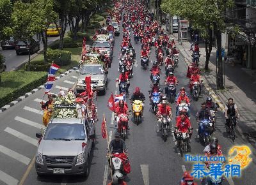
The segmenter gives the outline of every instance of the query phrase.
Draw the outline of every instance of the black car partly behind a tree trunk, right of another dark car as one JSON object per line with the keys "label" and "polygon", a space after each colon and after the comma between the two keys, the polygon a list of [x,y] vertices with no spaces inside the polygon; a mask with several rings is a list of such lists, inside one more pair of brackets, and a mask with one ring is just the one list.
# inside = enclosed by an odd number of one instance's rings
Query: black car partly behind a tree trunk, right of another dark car
{"label": "black car partly behind a tree trunk, right of another dark car", "polygon": [[16,54],[19,56],[22,53],[29,53],[30,48],[30,54],[35,54],[38,50],[40,50],[40,42],[35,40],[30,41],[18,41],[15,47]]}

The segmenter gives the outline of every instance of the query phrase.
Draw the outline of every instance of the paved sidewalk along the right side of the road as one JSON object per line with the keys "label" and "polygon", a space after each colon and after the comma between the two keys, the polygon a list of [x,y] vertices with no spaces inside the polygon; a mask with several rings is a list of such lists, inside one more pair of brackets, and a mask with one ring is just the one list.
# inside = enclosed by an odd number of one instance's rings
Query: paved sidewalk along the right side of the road
{"label": "paved sidewalk along the right side of the road", "polygon": [[[177,35],[177,34],[176,34]],[[172,35],[173,37],[176,36]],[[176,37],[175,37],[176,38]],[[187,63],[191,63],[192,57],[189,52],[191,43],[189,41],[183,41],[182,45],[177,45],[182,56]],[[195,45],[195,43],[194,43]],[[205,65],[205,47],[204,44],[200,45],[200,68],[204,68]],[[223,66],[224,67],[224,66]],[[214,98],[221,101],[221,110],[227,103],[228,98],[233,98],[234,103],[239,108],[239,114],[241,115],[239,122],[239,128],[241,132],[256,134],[256,73],[253,70],[242,69],[241,66],[232,66],[226,64],[225,75],[225,87],[223,91],[216,91],[216,48],[212,48],[209,72],[203,72],[205,88],[214,97],[216,94],[218,97]],[[213,92],[212,92],[213,91]],[[238,129],[239,129],[238,128]]]}

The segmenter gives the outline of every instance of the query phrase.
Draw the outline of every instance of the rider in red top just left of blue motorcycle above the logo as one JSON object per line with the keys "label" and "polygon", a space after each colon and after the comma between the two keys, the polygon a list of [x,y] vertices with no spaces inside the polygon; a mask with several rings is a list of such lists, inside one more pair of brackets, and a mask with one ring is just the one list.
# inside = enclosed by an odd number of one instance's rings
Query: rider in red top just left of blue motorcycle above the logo
{"label": "rider in red top just left of blue motorcycle above the logo", "polygon": [[[173,140],[174,142],[176,142],[177,139],[177,133],[178,132],[182,132],[182,133],[189,133],[190,129],[191,129],[191,122],[189,121],[188,117],[186,117],[186,115],[181,114],[180,115],[180,119],[177,119],[176,122],[176,127],[177,129],[175,130],[175,140]],[[187,137],[187,144],[189,143],[189,138],[191,137],[192,133],[189,133],[188,137]],[[188,147],[190,148],[189,144]]]}

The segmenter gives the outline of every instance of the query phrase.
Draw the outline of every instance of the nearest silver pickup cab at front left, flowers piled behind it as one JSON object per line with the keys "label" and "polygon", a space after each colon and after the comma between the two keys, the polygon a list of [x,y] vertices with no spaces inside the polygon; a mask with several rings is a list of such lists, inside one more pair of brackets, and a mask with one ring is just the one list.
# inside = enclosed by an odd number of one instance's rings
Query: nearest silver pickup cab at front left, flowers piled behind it
{"label": "nearest silver pickup cab at front left, flowers piled behind it", "polygon": [[95,127],[86,119],[52,119],[40,138],[35,168],[38,176],[47,174],[89,174],[90,152],[94,145]]}

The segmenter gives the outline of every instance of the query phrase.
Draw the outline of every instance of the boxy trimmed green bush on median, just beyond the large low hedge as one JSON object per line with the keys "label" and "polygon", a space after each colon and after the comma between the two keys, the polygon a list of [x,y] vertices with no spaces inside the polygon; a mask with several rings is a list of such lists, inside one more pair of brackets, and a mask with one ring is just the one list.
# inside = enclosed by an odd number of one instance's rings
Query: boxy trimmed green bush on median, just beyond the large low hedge
{"label": "boxy trimmed green bush on median, just beyond the large low hedge", "polygon": [[[60,59],[59,59],[60,57]],[[71,52],[65,50],[47,50],[47,59],[54,61],[59,66],[67,66],[71,63]]]}

